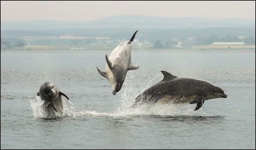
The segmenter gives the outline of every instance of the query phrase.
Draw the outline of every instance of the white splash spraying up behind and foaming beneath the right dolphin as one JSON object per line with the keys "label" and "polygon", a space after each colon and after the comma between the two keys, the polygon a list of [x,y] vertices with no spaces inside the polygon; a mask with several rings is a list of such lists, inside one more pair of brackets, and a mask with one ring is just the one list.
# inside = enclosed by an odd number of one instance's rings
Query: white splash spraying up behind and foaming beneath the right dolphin
{"label": "white splash spraying up behind and foaming beneath the right dolphin", "polygon": [[[134,82],[136,81],[136,76],[130,74],[130,80],[125,82],[123,91],[119,93],[120,107],[113,110],[111,113],[107,112],[96,112],[96,111],[79,111],[75,112],[75,117],[110,117],[110,118],[126,118],[132,116],[148,116],[148,115],[159,115],[159,116],[177,116],[177,115],[194,115],[196,114],[193,109],[195,105],[192,104],[144,104],[139,107],[133,108],[132,105],[138,94],[144,92],[155,83],[162,80],[162,75],[154,75],[153,78],[148,78],[145,80],[146,85],[141,85],[140,87],[134,88]],[[139,90],[138,90],[139,89]]]}

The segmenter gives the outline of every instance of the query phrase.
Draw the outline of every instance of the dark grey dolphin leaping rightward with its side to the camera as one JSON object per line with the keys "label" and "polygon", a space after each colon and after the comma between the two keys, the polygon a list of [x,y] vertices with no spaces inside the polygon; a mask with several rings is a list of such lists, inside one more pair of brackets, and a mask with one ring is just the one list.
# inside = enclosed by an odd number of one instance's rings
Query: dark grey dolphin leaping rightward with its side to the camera
{"label": "dark grey dolphin leaping rightward with its side to the camera", "polygon": [[189,103],[195,104],[194,111],[202,107],[205,100],[226,98],[224,91],[209,82],[191,78],[178,78],[169,72],[161,71],[163,80],[136,97],[134,107],[140,104]]}

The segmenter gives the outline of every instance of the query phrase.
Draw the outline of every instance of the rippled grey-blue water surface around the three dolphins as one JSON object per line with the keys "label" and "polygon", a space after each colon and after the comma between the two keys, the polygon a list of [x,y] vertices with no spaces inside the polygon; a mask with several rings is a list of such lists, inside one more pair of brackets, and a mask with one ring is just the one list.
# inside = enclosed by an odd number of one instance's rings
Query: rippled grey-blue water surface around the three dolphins
{"label": "rippled grey-blue water surface around the three dolphins", "polygon": [[[255,50],[136,51],[140,65],[112,95],[105,70],[109,51],[1,52],[1,149],[255,149]],[[203,79],[228,98],[195,104],[127,109],[162,80],[160,71]],[[40,85],[53,82],[70,97],[65,118],[44,119],[31,105]]]}

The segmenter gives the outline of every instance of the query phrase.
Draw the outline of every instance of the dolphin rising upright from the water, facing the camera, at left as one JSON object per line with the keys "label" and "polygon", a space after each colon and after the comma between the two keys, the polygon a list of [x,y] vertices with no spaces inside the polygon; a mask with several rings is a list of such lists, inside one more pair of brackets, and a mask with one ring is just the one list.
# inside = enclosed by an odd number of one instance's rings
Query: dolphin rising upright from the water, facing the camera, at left
{"label": "dolphin rising upright from the water, facing the camera, at left", "polygon": [[49,103],[47,105],[48,108],[52,107],[56,112],[61,113],[64,111],[64,100],[61,96],[64,96],[69,100],[64,93],[60,92],[58,88],[50,82],[45,82],[40,86],[37,96],[40,96],[41,100]]}

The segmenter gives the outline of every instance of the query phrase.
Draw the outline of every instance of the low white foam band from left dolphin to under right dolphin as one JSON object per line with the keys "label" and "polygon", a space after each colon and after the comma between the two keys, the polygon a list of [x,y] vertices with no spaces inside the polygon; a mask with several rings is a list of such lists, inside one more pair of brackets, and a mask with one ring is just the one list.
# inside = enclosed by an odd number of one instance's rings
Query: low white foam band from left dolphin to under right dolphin
{"label": "low white foam band from left dolphin to under right dolphin", "polygon": [[34,118],[79,118],[79,117],[91,117],[91,116],[103,116],[111,118],[120,118],[127,116],[148,116],[148,115],[159,115],[159,116],[177,116],[177,115],[193,115],[193,105],[191,104],[155,104],[155,105],[140,105],[140,107],[133,108],[129,103],[122,105],[113,113],[107,112],[96,112],[76,109],[74,104],[68,101],[65,103],[64,114],[54,111],[54,109],[46,108],[47,103],[42,101],[40,97],[36,97],[35,100],[30,100],[31,108],[33,111]]}

